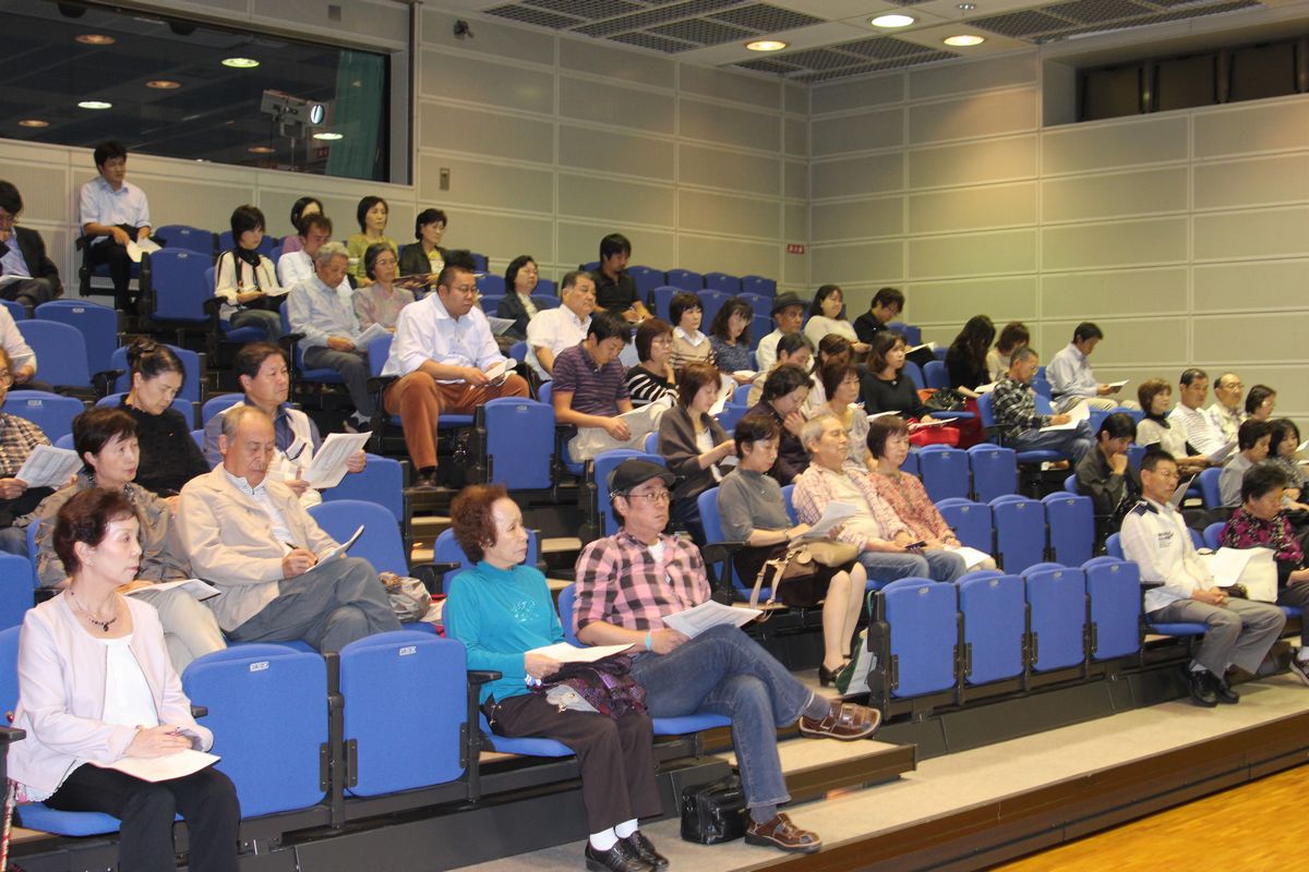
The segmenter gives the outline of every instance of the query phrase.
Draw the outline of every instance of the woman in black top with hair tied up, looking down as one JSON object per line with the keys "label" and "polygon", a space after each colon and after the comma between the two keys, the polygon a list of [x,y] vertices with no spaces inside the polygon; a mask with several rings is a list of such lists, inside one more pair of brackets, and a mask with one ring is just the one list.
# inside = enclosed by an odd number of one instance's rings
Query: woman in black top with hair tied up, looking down
{"label": "woman in black top with hair tied up, looking down", "polygon": [[199,446],[191,439],[191,422],[173,408],[186,380],[186,367],[168,345],[137,337],[127,346],[132,388],[118,408],[136,422],[141,460],[136,484],[161,497],[171,497],[182,485],[209,471]]}

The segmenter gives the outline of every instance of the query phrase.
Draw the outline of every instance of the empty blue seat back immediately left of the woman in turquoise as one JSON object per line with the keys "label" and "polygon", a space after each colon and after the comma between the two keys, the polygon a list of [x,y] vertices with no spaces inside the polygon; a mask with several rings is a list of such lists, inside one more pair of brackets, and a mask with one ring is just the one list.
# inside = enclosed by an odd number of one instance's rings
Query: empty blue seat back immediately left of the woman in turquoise
{"label": "empty blue seat back immediately left of the woman in turquoise", "polygon": [[[398,630],[340,650],[344,739],[355,743],[353,796],[444,784],[463,775],[467,723],[463,645],[431,633]],[[421,748],[398,754],[397,748]]]}

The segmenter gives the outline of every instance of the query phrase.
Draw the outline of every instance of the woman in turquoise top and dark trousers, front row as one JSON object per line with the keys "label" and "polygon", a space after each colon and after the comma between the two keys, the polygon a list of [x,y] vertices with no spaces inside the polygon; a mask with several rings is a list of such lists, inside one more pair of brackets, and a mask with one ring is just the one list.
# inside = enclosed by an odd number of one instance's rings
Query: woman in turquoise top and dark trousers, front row
{"label": "woman in turquoise top and dark trousers, front row", "polygon": [[662,813],[654,783],[653,727],[644,711],[609,718],[564,709],[533,693],[533,680],[548,679],[559,663],[533,648],[564,641],[546,577],[528,557],[522,512],[505,489],[465,488],[450,503],[454,539],[478,561],[450,583],[445,630],[469,650],[470,669],[496,669],[501,677],[482,686],[482,711],[501,736],[554,739],[577,754],[583,804],[590,838],[586,868],[647,872],[668,860],[637,829],[637,820]]}

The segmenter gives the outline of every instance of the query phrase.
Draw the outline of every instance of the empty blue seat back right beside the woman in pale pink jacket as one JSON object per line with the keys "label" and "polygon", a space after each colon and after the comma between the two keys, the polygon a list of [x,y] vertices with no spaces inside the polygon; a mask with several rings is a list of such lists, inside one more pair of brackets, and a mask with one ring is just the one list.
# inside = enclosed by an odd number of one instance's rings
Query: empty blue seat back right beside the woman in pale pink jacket
{"label": "empty blue seat back right beside the woman in pale pink jacket", "polygon": [[236,783],[243,817],[322,800],[327,663],[318,654],[240,645],[191,662],[182,689],[209,710],[200,723],[213,731],[217,769]]}

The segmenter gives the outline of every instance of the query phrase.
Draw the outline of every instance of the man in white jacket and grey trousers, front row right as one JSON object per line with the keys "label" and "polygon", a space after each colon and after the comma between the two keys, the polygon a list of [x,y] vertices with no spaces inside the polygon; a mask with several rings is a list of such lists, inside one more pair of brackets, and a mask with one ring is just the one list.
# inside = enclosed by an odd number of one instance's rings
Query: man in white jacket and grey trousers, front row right
{"label": "man in white jacket and grey trousers, front row right", "polygon": [[1186,669],[1191,699],[1206,707],[1241,699],[1227,680],[1236,665],[1254,673],[1278,641],[1285,614],[1276,605],[1229,597],[1200,562],[1182,516],[1169,505],[1178,484],[1166,451],[1141,460],[1144,498],[1123,519],[1123,556],[1140,567],[1145,618],[1153,624],[1204,624],[1208,631]]}

